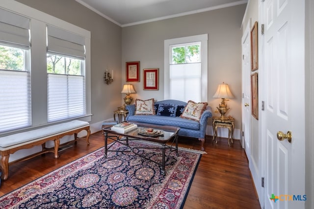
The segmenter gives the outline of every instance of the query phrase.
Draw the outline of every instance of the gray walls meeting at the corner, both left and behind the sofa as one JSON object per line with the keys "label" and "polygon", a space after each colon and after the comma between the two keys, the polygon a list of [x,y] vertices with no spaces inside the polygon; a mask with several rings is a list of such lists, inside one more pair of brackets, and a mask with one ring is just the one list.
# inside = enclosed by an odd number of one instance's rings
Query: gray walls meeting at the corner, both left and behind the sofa
{"label": "gray walls meeting at the corner, both left and behind the sofa", "polygon": [[[227,102],[228,115],[241,124],[241,21],[245,5],[123,27],[111,23],[75,0],[18,0],[61,20],[91,31],[92,121],[109,119],[123,104],[121,89],[126,82],[125,63],[140,61],[140,82],[132,82],[133,98],[163,99],[163,41],[209,34],[208,98],[215,109],[220,99],[212,98],[218,84],[228,83],[235,98]],[[70,11],[70,12],[69,12]],[[103,82],[105,69],[114,70],[114,82]],[[142,69],[159,68],[159,90],[143,90]],[[214,113],[219,116],[219,113]]]}

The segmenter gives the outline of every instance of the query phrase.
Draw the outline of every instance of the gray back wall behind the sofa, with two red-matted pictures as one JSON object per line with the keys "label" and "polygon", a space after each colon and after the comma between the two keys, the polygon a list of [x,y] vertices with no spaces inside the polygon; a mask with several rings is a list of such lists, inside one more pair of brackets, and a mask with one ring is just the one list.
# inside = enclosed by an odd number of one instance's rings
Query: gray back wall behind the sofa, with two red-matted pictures
{"label": "gray back wall behind the sofa, with two red-matted pictures", "polygon": [[[140,82],[132,82],[133,98],[163,99],[164,40],[208,33],[208,103],[215,109],[221,99],[212,98],[218,84],[228,83],[235,98],[227,102],[227,115],[241,125],[241,21],[246,4],[122,28],[122,84],[125,63],[140,61]],[[143,90],[143,69],[159,68],[159,90]],[[220,116],[214,113],[214,116]],[[209,124],[210,125],[210,124]]]}

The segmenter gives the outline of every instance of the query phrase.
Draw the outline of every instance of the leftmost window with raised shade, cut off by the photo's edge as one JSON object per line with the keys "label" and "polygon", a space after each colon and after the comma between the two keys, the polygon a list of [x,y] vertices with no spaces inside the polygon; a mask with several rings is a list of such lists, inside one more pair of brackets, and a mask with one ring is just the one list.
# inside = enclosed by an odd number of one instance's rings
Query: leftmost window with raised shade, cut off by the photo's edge
{"label": "leftmost window with raised shade, cut off by the photo's edge", "polygon": [[29,23],[0,9],[0,133],[31,126]]}

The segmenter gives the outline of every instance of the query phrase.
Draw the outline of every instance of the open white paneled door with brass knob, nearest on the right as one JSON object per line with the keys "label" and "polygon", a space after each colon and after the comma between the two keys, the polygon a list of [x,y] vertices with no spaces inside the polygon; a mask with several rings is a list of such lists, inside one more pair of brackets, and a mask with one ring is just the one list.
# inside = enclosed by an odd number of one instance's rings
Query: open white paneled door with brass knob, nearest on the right
{"label": "open white paneled door with brass knob, nearest on the right", "polygon": [[[261,5],[265,209],[304,208],[304,1],[265,0]],[[291,131],[292,141],[277,139],[278,131]]]}

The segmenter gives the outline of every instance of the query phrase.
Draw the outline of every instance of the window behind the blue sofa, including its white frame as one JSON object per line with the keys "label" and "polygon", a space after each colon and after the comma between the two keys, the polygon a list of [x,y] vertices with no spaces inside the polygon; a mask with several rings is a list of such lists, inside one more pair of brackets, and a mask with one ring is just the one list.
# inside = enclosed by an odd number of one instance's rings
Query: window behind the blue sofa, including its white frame
{"label": "window behind the blue sofa, including its white frame", "polygon": [[165,99],[207,101],[207,37],[165,40]]}

